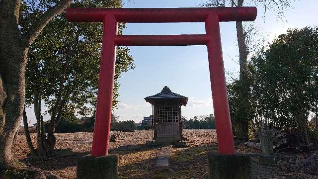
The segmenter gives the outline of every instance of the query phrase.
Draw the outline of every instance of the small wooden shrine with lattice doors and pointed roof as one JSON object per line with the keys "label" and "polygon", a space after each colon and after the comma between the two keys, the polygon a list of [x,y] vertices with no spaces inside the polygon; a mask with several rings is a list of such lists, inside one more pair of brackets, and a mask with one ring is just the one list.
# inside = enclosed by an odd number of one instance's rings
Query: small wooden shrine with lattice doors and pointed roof
{"label": "small wooden shrine with lattice doors and pointed roof", "polygon": [[186,105],[188,97],[172,92],[165,86],[158,94],[145,97],[154,106],[154,140],[159,142],[181,141],[181,105]]}

